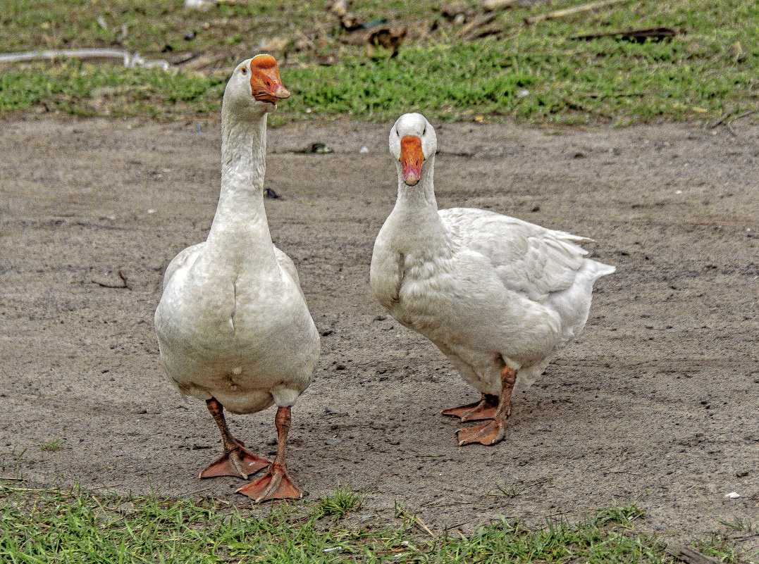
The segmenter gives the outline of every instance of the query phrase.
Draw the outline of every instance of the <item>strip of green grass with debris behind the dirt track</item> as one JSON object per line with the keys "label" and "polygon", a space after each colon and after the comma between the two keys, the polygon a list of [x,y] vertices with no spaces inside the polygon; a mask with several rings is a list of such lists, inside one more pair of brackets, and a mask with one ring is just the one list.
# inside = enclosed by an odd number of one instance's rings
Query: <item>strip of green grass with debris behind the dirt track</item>
{"label": "strip of green grass with debris behind the dirt track", "polygon": [[[27,0],[14,2],[0,15],[6,32],[0,50],[120,46],[140,50],[146,58],[162,58],[165,52],[210,53],[220,57],[217,67],[228,72],[258,52],[267,38],[285,37],[293,45],[298,33],[318,30],[320,40],[310,49],[291,52],[282,65],[282,78],[294,96],[282,104],[275,123],[339,115],[385,121],[415,110],[443,121],[483,115],[544,124],[628,125],[711,120],[759,105],[757,3],[625,2],[524,24],[530,15],[578,3],[538,2],[499,12],[491,25],[500,30],[500,39],[468,42],[432,0],[411,8],[401,2],[356,2],[352,9],[364,20],[384,16],[414,29],[438,22],[421,39],[417,34],[407,40],[397,57],[370,59],[364,46],[339,42],[345,32],[335,31],[336,21],[316,0],[225,4],[208,11],[188,10],[180,0],[150,6]],[[661,26],[682,33],[644,43],[572,39]],[[186,40],[188,31],[194,35]],[[284,61],[282,53],[276,55]],[[326,55],[335,64],[317,64]],[[80,115],[184,118],[217,112],[224,83],[223,72],[171,75],[74,61],[10,66],[0,74],[0,111],[37,107]]]}

